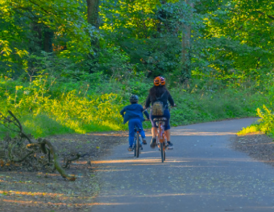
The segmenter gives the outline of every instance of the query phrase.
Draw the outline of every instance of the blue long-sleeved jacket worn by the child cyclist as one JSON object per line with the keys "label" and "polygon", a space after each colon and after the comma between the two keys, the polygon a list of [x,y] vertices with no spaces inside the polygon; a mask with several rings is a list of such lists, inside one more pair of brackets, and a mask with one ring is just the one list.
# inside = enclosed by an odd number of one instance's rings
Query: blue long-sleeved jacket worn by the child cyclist
{"label": "blue long-sleeved jacket worn by the child cyclist", "polygon": [[142,105],[131,104],[123,107],[123,109],[120,111],[120,114],[123,116],[123,124],[127,123],[130,121],[130,119],[133,118],[139,118],[140,121],[144,121],[143,112],[146,115],[146,118],[149,118],[148,112],[146,110],[144,111]]}

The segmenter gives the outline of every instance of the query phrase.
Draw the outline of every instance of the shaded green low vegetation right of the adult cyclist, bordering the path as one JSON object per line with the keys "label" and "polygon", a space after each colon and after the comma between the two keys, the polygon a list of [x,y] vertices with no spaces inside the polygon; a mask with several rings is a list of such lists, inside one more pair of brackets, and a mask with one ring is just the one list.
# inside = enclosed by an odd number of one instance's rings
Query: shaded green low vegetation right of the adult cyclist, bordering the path
{"label": "shaded green low vegetation right of the adult cyclist, bordering the path", "polygon": [[257,107],[264,102],[262,95],[251,90],[208,90],[189,94],[172,89],[172,94],[178,105],[171,109],[172,125],[255,116]]}

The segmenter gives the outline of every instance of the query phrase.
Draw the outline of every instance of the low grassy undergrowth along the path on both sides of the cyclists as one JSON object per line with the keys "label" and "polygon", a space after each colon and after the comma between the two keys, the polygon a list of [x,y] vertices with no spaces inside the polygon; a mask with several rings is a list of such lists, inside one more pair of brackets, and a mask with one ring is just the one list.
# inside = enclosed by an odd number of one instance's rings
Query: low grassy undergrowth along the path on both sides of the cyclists
{"label": "low grassy undergrowth along the path on both sides of the cyclists", "polygon": [[[32,82],[0,79],[0,111],[12,110],[26,132],[35,137],[126,130],[119,111],[128,105],[131,94],[139,95],[139,103],[144,103],[150,87],[146,78],[121,82],[115,79],[58,82],[44,76]],[[178,105],[171,110],[173,126],[255,116],[257,107],[264,103],[264,95],[248,89],[191,92],[170,87],[169,90]],[[144,123],[144,127],[151,124]],[[3,125],[0,131],[0,136],[7,132]]]}

